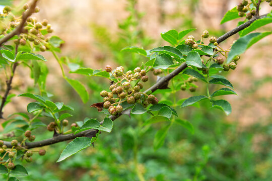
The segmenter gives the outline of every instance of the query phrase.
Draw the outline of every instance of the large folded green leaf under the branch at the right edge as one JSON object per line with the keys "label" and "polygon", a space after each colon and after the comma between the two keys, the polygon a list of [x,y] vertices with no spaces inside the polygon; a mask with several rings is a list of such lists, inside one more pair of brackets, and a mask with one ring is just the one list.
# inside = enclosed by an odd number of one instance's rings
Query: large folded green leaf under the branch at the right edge
{"label": "large folded green leaf under the branch at the right edge", "polygon": [[240,55],[246,51],[251,45],[262,39],[263,37],[270,35],[272,32],[264,33],[250,33],[246,36],[239,38],[231,47],[227,62],[230,63],[236,55]]}

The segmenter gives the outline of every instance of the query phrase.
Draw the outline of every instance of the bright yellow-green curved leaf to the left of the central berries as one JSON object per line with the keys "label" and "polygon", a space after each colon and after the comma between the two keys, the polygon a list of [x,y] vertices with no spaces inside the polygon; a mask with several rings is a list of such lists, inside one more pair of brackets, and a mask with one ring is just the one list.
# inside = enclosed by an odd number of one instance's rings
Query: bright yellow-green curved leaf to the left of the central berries
{"label": "bright yellow-green curved leaf to the left of the central berries", "polygon": [[89,94],[86,91],[85,86],[79,80],[71,79],[68,77],[65,77],[65,79],[76,90],[82,102],[87,103],[87,101],[89,100]]}

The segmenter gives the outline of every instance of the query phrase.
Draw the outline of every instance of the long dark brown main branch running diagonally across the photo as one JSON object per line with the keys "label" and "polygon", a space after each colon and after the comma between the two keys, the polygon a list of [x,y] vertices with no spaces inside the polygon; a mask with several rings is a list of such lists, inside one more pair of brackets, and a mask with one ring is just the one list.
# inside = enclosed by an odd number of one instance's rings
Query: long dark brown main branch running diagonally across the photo
{"label": "long dark brown main branch running diagonally across the photo", "polygon": [[[263,18],[265,17],[267,14],[262,15],[262,16],[258,16],[255,17],[254,19],[252,18],[251,20],[249,20],[248,22],[240,25],[237,28],[234,28],[233,30],[229,31],[228,33],[222,35],[221,37],[218,38],[217,42],[221,43],[222,41],[226,40],[227,38],[229,38],[230,36],[236,34],[237,32],[245,29],[246,27],[248,27],[252,22],[254,22],[257,19]],[[151,86],[149,89],[147,89],[145,91],[145,93],[151,91],[152,93],[154,91],[156,91],[157,89],[162,88],[166,83],[168,83],[169,80],[171,80],[174,76],[178,75],[182,70],[184,70],[187,67],[186,63],[182,63],[177,69],[175,69],[174,71],[172,71],[171,73],[169,73],[168,75],[162,77],[161,79],[159,79],[159,81],[157,81],[153,86]],[[126,110],[125,110],[126,111]],[[122,114],[117,115],[117,116],[110,116],[109,118],[114,121],[115,119],[117,119],[118,117],[120,117]],[[103,122],[101,122],[102,124]],[[36,141],[36,142],[26,142],[26,148],[35,148],[35,147],[42,147],[42,146],[46,146],[46,145],[51,145],[54,143],[58,143],[58,142],[62,142],[62,141],[68,141],[71,139],[75,139],[77,137],[80,136],[88,136],[88,137],[94,137],[96,136],[96,133],[98,132],[98,130],[95,129],[90,129],[90,130],[86,130],[83,131],[81,133],[78,134],[67,134],[67,135],[58,135],[56,137],[53,138],[49,138],[46,140],[42,140],[42,141]],[[11,147],[11,142],[7,142],[4,141],[4,144],[7,145],[8,147]]]}

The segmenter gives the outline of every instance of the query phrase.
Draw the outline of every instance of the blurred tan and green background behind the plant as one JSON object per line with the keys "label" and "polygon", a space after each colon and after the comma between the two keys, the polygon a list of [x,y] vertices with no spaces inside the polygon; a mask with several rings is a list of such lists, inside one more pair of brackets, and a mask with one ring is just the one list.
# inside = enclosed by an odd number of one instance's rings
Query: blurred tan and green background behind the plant
{"label": "blurred tan and green background behind the plant", "polygon": [[[2,5],[9,1],[1,1]],[[65,41],[60,56],[70,63],[77,63],[93,69],[124,66],[132,69],[146,62],[147,58],[120,52],[126,46],[152,49],[168,45],[160,33],[171,29],[178,32],[197,28],[193,31],[196,39],[204,30],[211,36],[220,37],[235,28],[237,19],[220,25],[225,13],[241,1],[220,0],[41,0],[38,21],[47,19],[55,35]],[[21,6],[27,1],[14,1]],[[264,3],[260,14],[271,11]],[[271,31],[271,26],[260,29]],[[228,48],[239,38],[227,39],[222,47]],[[178,108],[180,119],[188,120],[194,127],[194,134],[181,126],[171,127],[165,144],[153,150],[153,139],[161,124],[142,129],[141,124],[149,115],[126,116],[114,122],[111,133],[99,136],[95,147],[56,163],[67,142],[45,147],[47,154],[34,157],[27,165],[30,176],[21,180],[271,180],[272,179],[272,37],[268,36],[253,45],[241,55],[235,70],[224,75],[233,83],[238,96],[226,96],[232,105],[232,113],[226,117],[223,112],[212,109],[208,102],[201,102],[198,108]],[[56,60],[49,52],[42,53],[48,60],[48,92],[54,102],[74,107],[69,121],[85,117],[103,119],[103,113],[89,108],[101,102],[100,91],[109,82],[100,77],[84,77],[69,74],[84,82],[90,100],[83,104],[74,89],[61,77]],[[29,72],[19,67],[14,77],[14,94],[35,91],[33,80],[27,79]],[[1,75],[2,76],[2,75]],[[156,80],[146,83],[146,87]],[[1,93],[5,82],[1,81]],[[175,95],[158,94],[161,103],[197,96],[205,93],[205,85],[197,82],[196,93],[179,91]],[[211,92],[219,86],[211,87]],[[199,93],[200,92],[200,93]],[[13,98],[5,108],[4,116],[14,112],[26,112],[28,99]],[[173,105],[175,107],[176,105]],[[44,120],[49,123],[50,120]],[[37,131],[37,140],[51,137],[44,129]]]}

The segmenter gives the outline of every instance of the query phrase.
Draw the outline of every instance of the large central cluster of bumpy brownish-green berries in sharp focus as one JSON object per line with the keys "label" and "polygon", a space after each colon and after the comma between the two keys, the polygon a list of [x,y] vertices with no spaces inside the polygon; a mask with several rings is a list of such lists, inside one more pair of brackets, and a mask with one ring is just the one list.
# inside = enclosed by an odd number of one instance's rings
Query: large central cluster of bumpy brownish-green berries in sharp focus
{"label": "large central cluster of bumpy brownish-green berries in sharp focus", "polygon": [[[105,67],[107,72],[112,72],[110,65]],[[161,70],[153,70],[156,74],[160,74]],[[116,115],[123,111],[123,107],[120,105],[123,102],[128,104],[139,103],[144,107],[147,107],[149,104],[157,104],[158,99],[154,95],[147,95],[141,92],[141,89],[144,87],[142,82],[148,81],[149,77],[146,75],[147,72],[145,69],[136,67],[133,71],[128,70],[124,73],[124,67],[119,66],[113,72],[112,75],[116,79],[116,83],[111,84],[109,89],[111,92],[102,91],[100,96],[103,97],[103,107],[108,109],[111,115]],[[135,80],[135,85],[131,85],[132,81]],[[116,95],[117,98],[114,98]]]}

